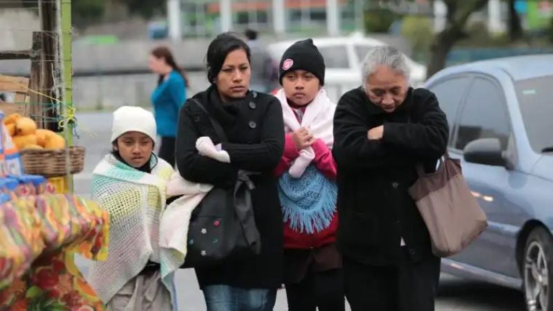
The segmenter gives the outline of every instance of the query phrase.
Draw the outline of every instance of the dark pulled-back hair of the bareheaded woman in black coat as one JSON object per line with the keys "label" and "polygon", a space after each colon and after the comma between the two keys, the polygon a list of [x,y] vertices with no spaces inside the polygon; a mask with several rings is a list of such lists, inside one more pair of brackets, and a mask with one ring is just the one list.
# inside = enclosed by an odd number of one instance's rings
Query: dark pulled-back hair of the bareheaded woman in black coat
{"label": "dark pulled-back hair of the bareheaded woman in black coat", "polygon": [[234,50],[242,49],[250,62],[250,47],[232,32],[224,32],[218,35],[207,48],[207,79],[213,84],[218,73],[223,68],[227,55]]}

